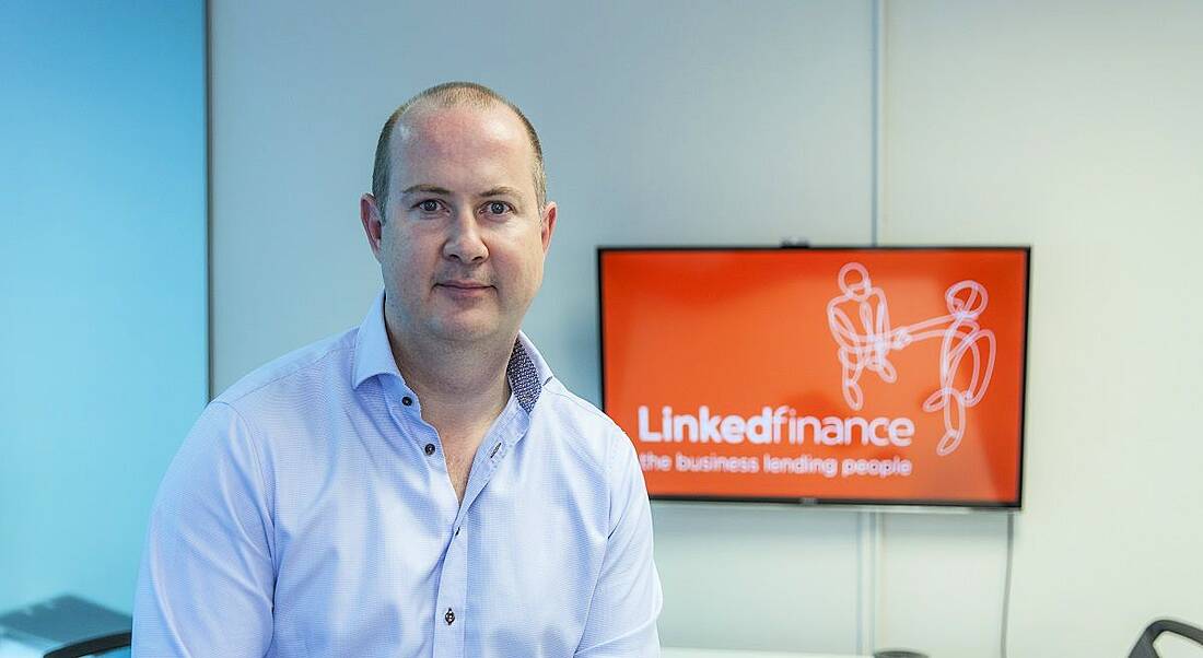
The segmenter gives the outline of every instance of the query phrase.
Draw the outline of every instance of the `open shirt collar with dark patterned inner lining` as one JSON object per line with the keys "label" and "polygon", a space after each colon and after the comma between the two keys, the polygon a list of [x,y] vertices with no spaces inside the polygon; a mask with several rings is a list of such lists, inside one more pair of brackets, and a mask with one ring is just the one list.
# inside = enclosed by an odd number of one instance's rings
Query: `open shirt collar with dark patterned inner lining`
{"label": "open shirt collar with dark patterned inner lining", "polygon": [[[355,337],[355,367],[351,385],[358,389],[360,384],[381,374],[391,374],[398,381],[405,381],[397,369],[397,361],[392,357],[392,346],[389,344],[389,332],[384,324],[383,290],[372,302],[372,308]],[[535,402],[543,393],[543,387],[551,381],[551,368],[535,349],[534,343],[521,331],[517,340],[514,342],[510,361],[505,366],[505,377],[510,380],[510,391],[527,414],[534,409]]]}

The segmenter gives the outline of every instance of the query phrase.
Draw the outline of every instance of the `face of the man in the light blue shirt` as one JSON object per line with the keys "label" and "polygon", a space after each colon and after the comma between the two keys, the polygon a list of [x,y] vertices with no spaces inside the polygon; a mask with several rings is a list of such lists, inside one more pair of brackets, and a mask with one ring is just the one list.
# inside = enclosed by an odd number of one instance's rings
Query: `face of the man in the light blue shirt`
{"label": "face of the man in the light blue shirt", "polygon": [[521,120],[500,105],[422,108],[397,125],[391,154],[378,242],[363,207],[390,327],[444,342],[517,332],[556,221],[553,203],[538,207]]}

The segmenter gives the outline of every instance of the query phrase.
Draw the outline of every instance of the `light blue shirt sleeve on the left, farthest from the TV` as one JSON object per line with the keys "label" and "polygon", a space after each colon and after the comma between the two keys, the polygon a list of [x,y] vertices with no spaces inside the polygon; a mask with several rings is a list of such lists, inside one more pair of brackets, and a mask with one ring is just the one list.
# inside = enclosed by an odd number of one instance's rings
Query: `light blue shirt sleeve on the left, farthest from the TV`
{"label": "light blue shirt sleeve on the left, farthest from the TV", "polygon": [[272,509],[248,425],[229,404],[209,404],[150,512],[134,601],[135,657],[267,652]]}

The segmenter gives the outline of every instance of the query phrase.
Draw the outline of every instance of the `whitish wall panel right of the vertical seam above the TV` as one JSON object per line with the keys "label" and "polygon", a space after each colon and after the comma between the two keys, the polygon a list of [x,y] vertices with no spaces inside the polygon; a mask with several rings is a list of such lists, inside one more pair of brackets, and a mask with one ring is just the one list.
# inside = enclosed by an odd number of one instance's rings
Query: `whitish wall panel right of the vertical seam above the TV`
{"label": "whitish wall panel right of the vertical seam above the TV", "polygon": [[[1203,4],[887,11],[883,241],[1033,245],[1011,654],[1203,623]],[[883,641],[990,656],[989,526],[890,520]]]}

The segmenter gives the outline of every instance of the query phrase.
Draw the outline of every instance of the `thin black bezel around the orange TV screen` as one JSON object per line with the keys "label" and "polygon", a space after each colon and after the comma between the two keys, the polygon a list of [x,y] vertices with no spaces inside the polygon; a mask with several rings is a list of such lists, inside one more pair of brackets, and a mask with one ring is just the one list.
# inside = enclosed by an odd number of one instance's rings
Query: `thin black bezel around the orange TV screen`
{"label": "thin black bezel around the orange TV screen", "polygon": [[982,511],[1021,511],[1024,509],[1024,461],[1026,456],[1025,443],[1027,434],[1027,358],[1029,336],[1031,333],[1031,281],[1032,281],[1032,247],[1030,244],[949,244],[949,245],[907,245],[891,244],[881,247],[864,245],[811,245],[811,244],[781,244],[781,245],[599,245],[597,248],[597,300],[598,300],[598,373],[602,384],[602,411],[609,415],[605,399],[605,308],[603,304],[603,278],[602,262],[608,253],[680,253],[680,251],[1023,251],[1024,253],[1024,357],[1019,364],[1019,464],[1017,476],[1019,479],[1018,494],[1014,502],[989,502],[989,500],[944,500],[944,499],[881,499],[881,498],[822,498],[822,497],[737,497],[737,496],[676,496],[676,494],[652,494],[652,500],[675,500],[687,503],[737,503],[737,504],[784,504],[790,506],[834,506],[834,508],[870,508],[884,511],[902,511],[906,509],[919,510],[982,510]]}

